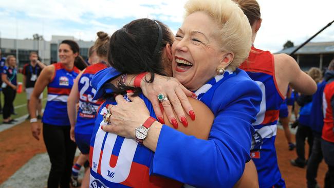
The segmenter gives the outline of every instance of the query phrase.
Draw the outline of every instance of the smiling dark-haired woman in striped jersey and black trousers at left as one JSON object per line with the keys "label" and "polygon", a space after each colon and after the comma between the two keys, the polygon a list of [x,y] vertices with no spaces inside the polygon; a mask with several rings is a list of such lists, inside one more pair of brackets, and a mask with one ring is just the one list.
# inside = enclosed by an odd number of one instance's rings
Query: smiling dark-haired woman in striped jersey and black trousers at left
{"label": "smiling dark-haired woman in striped jersey and black trousers at left", "polygon": [[38,97],[48,88],[47,103],[43,115],[43,138],[51,162],[48,187],[69,187],[71,167],[76,151],[76,143],[70,140],[70,122],[67,116],[67,98],[79,69],[85,62],[79,56],[79,45],[65,40],[59,45],[59,63],[45,67],[36,81],[29,109],[31,112],[32,136],[39,140],[40,123],[36,119]]}

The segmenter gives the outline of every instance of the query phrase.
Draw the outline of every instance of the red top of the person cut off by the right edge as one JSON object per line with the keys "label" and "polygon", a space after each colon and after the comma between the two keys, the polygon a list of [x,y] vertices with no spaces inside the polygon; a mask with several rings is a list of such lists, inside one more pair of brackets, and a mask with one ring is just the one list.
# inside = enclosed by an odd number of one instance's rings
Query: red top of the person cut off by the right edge
{"label": "red top of the person cut off by the right edge", "polygon": [[322,128],[322,139],[327,142],[334,142],[333,108],[331,105],[333,96],[334,77],[328,80],[323,93],[324,127]]}

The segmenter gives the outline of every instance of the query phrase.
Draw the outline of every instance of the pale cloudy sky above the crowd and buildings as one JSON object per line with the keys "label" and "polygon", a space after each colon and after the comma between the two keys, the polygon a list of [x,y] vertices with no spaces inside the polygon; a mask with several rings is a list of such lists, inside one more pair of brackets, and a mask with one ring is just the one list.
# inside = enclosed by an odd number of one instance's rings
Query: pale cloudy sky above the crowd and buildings
{"label": "pale cloudy sky above the crowd and buildings", "polygon": [[[203,0],[205,1],[205,0]],[[96,32],[110,35],[137,18],[154,18],[175,33],[182,24],[186,0],[10,0],[0,3],[0,37],[32,38],[34,33],[75,36],[95,41]],[[263,18],[256,48],[280,51],[292,41],[300,45],[334,20],[333,0],[258,0]],[[334,24],[311,42],[334,41]]]}

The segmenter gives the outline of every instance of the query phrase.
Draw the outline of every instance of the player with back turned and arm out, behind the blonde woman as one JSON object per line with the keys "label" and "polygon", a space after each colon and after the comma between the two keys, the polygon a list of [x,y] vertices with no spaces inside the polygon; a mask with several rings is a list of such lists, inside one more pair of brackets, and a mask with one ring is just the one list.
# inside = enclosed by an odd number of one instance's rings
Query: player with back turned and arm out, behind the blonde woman
{"label": "player with back turned and arm out, behind the blonde woman", "polygon": [[262,89],[261,109],[253,123],[255,134],[251,151],[257,168],[259,187],[285,187],[274,145],[280,105],[285,99],[284,94],[287,93],[289,84],[306,95],[312,95],[317,90],[317,85],[289,55],[271,54],[254,47],[255,37],[262,23],[259,5],[255,0],[235,2],[248,17],[253,33],[253,46],[248,60],[239,68],[246,70]]}

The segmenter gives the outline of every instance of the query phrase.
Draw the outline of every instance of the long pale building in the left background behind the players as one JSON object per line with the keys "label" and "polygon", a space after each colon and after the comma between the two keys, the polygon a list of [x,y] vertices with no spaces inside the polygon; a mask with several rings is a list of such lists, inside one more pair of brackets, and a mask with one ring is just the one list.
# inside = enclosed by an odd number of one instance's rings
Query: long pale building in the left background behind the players
{"label": "long pale building in the left background behind the players", "polygon": [[51,41],[33,40],[33,39],[5,39],[0,38],[0,49],[2,57],[14,55],[19,67],[29,63],[29,54],[31,51],[38,52],[41,61],[50,64],[58,62],[58,46],[63,40],[75,40],[80,47],[80,55],[86,60],[88,58],[88,49],[94,45],[94,41],[76,40],[73,36],[52,35]]}

